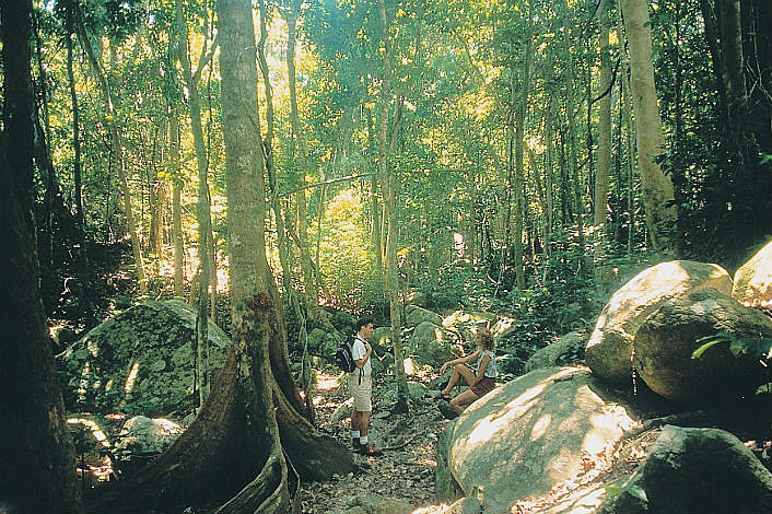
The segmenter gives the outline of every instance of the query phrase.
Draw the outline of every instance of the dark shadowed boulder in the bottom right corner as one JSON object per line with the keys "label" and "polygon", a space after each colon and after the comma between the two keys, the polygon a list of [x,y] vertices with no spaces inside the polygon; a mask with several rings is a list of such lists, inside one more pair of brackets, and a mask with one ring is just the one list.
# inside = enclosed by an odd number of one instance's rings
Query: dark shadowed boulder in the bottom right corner
{"label": "dark shadowed boulder in the bottom right corner", "polygon": [[772,474],[728,432],[666,425],[644,464],[600,512],[769,513]]}

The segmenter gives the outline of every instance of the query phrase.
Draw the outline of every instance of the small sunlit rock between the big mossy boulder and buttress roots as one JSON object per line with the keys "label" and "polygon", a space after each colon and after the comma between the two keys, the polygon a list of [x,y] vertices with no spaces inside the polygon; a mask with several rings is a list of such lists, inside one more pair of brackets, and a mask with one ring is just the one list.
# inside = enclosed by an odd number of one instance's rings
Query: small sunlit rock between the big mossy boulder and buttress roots
{"label": "small sunlit rock between the big mossy boulder and buttress roots", "polygon": [[167,419],[131,418],[120,430],[115,442],[119,459],[163,453],[183,433],[183,428]]}

